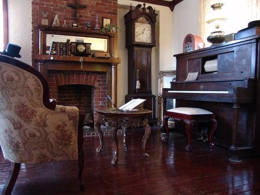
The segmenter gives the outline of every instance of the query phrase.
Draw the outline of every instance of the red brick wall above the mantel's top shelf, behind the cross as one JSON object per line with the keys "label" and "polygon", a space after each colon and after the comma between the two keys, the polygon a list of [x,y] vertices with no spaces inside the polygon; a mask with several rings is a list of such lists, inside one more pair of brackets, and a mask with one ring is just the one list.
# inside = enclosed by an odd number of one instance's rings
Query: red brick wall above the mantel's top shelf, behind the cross
{"label": "red brick wall above the mantel's top shelf, behind the cross", "polygon": [[[74,3],[75,0],[32,0],[32,25],[38,24],[38,10],[48,10],[52,12],[52,22],[55,15],[58,14],[60,26],[66,21],[76,21],[75,10],[66,6],[66,3]],[[86,5],[86,8],[80,9],[79,26],[86,28],[86,20],[90,20],[91,28],[95,28],[95,16],[99,15],[99,26],[101,27],[101,18],[110,18],[112,23],[117,23],[118,0],[79,0],[80,4]]]}

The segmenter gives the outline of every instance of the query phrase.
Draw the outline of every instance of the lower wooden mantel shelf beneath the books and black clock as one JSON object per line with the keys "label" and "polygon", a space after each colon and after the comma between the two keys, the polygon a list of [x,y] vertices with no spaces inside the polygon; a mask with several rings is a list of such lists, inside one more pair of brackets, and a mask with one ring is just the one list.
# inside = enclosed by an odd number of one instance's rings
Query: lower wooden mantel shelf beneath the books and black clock
{"label": "lower wooden mantel shelf beneath the books and black clock", "polygon": [[83,62],[96,62],[96,63],[111,63],[119,64],[121,62],[118,58],[93,58],[93,57],[80,57],[80,56],[52,56],[53,59],[50,59],[50,55],[36,55],[34,59],[40,60],[53,60],[53,61],[80,61],[80,58],[83,59]]}

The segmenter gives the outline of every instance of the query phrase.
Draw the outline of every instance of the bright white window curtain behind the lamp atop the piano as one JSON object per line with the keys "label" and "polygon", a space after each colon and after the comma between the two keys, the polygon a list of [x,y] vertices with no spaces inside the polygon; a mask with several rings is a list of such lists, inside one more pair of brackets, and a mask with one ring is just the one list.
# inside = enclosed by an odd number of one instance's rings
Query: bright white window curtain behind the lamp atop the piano
{"label": "bright white window curtain behind the lamp atop the piano", "polygon": [[228,20],[222,26],[225,35],[237,33],[246,28],[248,22],[260,20],[260,0],[200,0],[200,37],[209,46],[207,37],[211,32],[216,31],[213,26],[206,23],[207,17],[213,9],[210,7],[214,3],[224,3],[223,13]]}

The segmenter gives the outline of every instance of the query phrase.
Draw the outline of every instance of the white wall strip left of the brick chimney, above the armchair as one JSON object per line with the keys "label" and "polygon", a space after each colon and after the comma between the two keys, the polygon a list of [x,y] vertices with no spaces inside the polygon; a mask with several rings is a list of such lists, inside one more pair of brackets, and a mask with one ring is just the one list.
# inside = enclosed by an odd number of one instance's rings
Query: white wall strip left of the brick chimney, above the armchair
{"label": "white wall strip left of the brick chimney, above the armchair", "polygon": [[32,65],[32,2],[8,0],[8,41],[21,46],[19,60]]}

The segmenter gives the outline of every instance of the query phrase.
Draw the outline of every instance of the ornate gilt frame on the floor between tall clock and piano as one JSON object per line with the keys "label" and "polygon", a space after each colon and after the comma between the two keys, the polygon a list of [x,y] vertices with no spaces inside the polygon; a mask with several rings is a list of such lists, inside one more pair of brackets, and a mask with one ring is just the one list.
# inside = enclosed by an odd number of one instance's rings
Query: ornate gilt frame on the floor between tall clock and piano
{"label": "ornate gilt frame on the floor between tall clock and piano", "polygon": [[[159,76],[159,82],[158,82],[158,119],[157,119],[157,125],[162,126],[162,120],[163,120],[163,116],[162,116],[163,115],[162,90],[163,90],[163,88],[170,88],[170,82],[176,80],[176,70],[160,71],[158,76]],[[167,101],[167,102],[170,102],[170,101]],[[166,109],[170,109],[170,108],[166,108]],[[169,121],[168,121],[168,124],[169,124]],[[171,126],[172,125],[169,125],[169,128],[171,128]]]}

